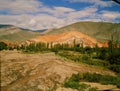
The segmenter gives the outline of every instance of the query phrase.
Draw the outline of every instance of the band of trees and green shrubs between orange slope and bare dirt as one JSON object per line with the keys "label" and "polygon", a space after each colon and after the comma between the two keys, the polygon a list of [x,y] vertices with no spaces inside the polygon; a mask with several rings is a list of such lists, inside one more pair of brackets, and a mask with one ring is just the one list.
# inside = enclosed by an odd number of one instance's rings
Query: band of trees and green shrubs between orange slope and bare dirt
{"label": "band of trees and green shrubs between orange slope and bare dirt", "polygon": [[[94,48],[83,47],[82,44],[76,44],[73,41],[73,46],[69,44],[55,44],[52,43],[30,43],[29,45],[21,45],[15,47],[8,47],[8,49],[22,50],[26,53],[36,52],[48,52],[52,51],[55,54],[70,59],[78,63],[86,63],[89,65],[102,66],[113,70],[116,73],[120,73],[120,43],[109,41],[108,47],[98,48],[97,45]],[[1,44],[2,49],[6,49],[6,46]]]}

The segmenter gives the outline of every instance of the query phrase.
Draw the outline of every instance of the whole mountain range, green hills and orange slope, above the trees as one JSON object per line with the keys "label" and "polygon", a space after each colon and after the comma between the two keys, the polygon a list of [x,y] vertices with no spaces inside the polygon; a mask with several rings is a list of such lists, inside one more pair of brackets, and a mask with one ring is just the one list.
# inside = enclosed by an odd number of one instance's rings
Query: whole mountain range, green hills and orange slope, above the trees
{"label": "whole mountain range, green hills and orange slope, above the trees", "polygon": [[120,23],[109,22],[77,22],[65,27],[32,31],[13,25],[0,25],[0,40],[9,42],[53,42],[83,43],[84,46],[103,46],[113,36],[120,41]]}

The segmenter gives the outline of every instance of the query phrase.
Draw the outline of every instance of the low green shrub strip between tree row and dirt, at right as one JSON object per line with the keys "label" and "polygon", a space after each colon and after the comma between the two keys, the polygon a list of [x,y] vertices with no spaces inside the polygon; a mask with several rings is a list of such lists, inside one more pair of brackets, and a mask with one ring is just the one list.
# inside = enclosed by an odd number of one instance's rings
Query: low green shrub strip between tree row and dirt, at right
{"label": "low green shrub strip between tree row and dirt, at right", "polygon": [[[73,51],[61,51],[58,53],[58,55],[65,57],[67,59],[70,59],[74,62],[80,62],[85,63],[88,65],[94,65],[94,66],[102,66],[107,69],[110,69],[114,72],[120,73],[120,55],[119,52],[117,54],[108,55],[108,48],[99,48],[100,51],[98,51],[98,56],[104,55],[105,58],[100,57],[94,57],[94,54],[80,54]],[[103,56],[102,56],[103,57]],[[105,59],[105,60],[101,60]]]}

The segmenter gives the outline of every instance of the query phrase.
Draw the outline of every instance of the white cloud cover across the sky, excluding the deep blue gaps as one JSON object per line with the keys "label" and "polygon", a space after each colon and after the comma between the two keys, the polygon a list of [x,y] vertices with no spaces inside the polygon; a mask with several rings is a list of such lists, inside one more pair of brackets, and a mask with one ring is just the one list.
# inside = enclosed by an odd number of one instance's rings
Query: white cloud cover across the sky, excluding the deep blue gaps
{"label": "white cloud cover across the sky, excluding the deep blue gaps", "polygon": [[[90,2],[106,6],[101,0],[72,0]],[[9,14],[0,15],[0,24],[11,24],[23,28],[38,30],[62,27],[78,21],[114,21],[120,17],[119,12],[97,12],[97,7],[75,10],[66,7],[43,5],[37,0],[0,0],[0,10],[8,10]]]}

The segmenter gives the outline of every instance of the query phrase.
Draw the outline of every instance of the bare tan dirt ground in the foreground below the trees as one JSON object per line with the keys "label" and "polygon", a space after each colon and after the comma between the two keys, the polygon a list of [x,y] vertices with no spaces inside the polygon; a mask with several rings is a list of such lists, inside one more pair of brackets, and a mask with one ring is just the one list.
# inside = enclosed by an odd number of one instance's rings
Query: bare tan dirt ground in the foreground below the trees
{"label": "bare tan dirt ground in the foreground below the trees", "polygon": [[1,51],[0,63],[1,91],[48,91],[51,88],[56,88],[56,91],[76,91],[61,89],[64,80],[73,73],[115,75],[103,68],[66,61],[52,52],[24,54],[16,50]]}

